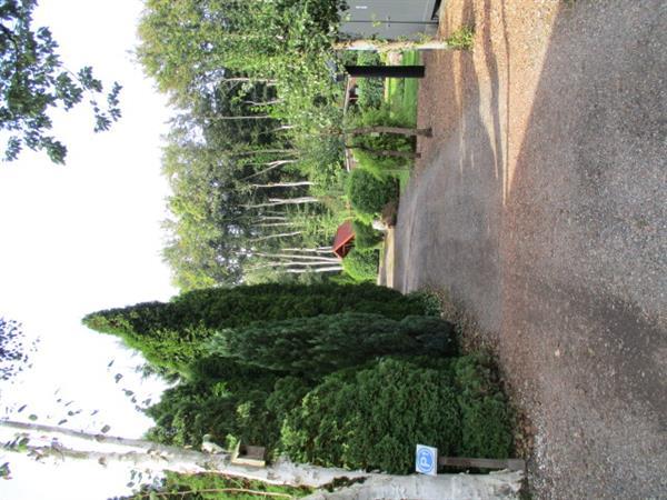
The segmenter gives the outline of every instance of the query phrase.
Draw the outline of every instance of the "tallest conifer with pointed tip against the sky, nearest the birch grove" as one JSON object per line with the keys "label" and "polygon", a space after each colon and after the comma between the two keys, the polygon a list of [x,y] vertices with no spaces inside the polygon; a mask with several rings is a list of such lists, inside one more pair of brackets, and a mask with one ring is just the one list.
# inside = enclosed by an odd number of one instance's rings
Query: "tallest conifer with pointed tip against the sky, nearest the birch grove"
{"label": "tallest conifer with pointed tip against the sky, nearest the birch grove", "polygon": [[146,302],[93,312],[83,323],[119,336],[153,364],[183,371],[206,356],[205,342],[215,331],[257,319],[281,320],[346,311],[377,312],[400,319],[422,314],[420,300],[396,290],[364,284],[256,284],[195,290],[171,302]]}

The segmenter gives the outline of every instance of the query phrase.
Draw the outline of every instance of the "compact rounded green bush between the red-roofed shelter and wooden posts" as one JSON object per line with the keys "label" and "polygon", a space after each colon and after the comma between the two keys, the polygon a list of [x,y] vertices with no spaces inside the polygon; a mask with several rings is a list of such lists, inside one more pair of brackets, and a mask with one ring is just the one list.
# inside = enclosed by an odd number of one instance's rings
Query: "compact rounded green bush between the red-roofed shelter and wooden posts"
{"label": "compact rounded green bush between the red-roofed shelter and wooden posts", "polygon": [[354,169],[348,177],[347,196],[356,212],[376,214],[398,198],[398,183],[395,179],[380,179],[365,169]]}

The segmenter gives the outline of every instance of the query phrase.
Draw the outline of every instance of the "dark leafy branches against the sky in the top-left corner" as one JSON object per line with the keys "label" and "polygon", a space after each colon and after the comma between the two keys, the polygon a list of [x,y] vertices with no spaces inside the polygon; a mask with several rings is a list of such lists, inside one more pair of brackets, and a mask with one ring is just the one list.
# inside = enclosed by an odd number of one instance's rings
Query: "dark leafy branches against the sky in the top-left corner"
{"label": "dark leafy branches against the sky in the top-left corner", "polygon": [[36,6],[37,0],[0,2],[0,130],[9,133],[4,158],[14,160],[27,147],[46,151],[54,163],[64,163],[67,148],[50,134],[50,109],[69,111],[88,94],[94,131],[108,130],[120,118],[121,87],[115,82],[106,107],[98,103],[102,82],[90,67],[73,72],[63,66],[49,29],[31,26]]}

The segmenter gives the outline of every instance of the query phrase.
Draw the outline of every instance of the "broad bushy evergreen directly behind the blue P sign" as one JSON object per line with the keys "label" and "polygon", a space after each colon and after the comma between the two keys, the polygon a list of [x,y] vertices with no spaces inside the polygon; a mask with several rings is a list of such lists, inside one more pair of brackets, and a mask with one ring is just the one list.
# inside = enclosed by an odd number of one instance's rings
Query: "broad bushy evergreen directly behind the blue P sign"
{"label": "broad bushy evergreen directly behind the blue P sign", "polygon": [[440,454],[509,457],[508,422],[482,359],[385,358],[327,377],[288,414],[280,447],[298,461],[408,473],[417,443]]}

